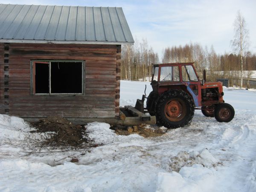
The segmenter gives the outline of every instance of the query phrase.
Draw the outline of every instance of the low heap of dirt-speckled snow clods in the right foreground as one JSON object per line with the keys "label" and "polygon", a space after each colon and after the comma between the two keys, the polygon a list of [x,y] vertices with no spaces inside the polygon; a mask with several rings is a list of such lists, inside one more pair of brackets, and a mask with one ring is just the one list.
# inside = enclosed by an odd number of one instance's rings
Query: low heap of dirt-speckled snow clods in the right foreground
{"label": "low heap of dirt-speckled snow clods in the right foreground", "polygon": [[169,171],[179,172],[183,166],[191,167],[194,164],[201,164],[204,167],[214,167],[218,160],[212,156],[207,148],[201,151],[180,151],[175,157],[169,159]]}

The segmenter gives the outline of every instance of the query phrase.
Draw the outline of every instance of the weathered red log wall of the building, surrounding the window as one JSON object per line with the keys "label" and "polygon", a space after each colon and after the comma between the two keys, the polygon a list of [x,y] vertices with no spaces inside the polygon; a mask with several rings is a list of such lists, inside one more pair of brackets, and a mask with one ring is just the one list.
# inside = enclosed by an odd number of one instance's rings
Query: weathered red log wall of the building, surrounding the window
{"label": "weathered red log wall of the building, surrounding the window", "polygon": [[[13,116],[114,118],[119,115],[120,54],[117,45],[0,44],[0,113]],[[6,56],[6,55],[5,55]],[[8,63],[4,63],[8,59]],[[31,60],[83,60],[83,95],[31,95]],[[7,60],[6,60],[7,61]],[[6,67],[8,65],[8,70]],[[8,85],[5,75],[8,73]],[[6,76],[7,77],[7,76]],[[8,87],[8,92],[5,88]],[[8,96],[6,96],[8,95]]]}

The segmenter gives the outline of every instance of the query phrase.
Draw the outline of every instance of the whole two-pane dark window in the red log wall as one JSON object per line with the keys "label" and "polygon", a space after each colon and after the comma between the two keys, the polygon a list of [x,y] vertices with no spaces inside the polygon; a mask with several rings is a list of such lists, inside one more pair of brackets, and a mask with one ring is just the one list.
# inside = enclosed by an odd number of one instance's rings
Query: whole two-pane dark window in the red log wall
{"label": "whole two-pane dark window in the red log wall", "polygon": [[83,93],[83,62],[35,61],[33,93]]}

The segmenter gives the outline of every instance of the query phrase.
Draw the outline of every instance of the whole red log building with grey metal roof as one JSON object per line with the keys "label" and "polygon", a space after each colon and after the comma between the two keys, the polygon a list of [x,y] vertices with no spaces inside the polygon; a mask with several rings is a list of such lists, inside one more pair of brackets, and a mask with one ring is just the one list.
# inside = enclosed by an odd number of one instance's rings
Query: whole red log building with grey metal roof
{"label": "whole red log building with grey metal roof", "polygon": [[133,43],[122,8],[0,4],[0,113],[118,118],[121,44]]}

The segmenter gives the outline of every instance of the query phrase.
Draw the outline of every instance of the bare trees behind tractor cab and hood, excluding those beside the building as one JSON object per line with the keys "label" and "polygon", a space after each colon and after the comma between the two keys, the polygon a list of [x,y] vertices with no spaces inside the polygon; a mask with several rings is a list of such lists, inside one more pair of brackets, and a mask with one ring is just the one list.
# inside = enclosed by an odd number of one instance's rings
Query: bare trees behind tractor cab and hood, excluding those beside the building
{"label": "bare trees behind tractor cab and hood, excluding those beside the building", "polygon": [[[229,86],[239,86],[241,77],[241,56],[233,53],[217,54],[213,46],[208,50],[200,44],[186,44],[164,49],[163,63],[195,62],[198,75],[202,78],[207,70],[207,80],[229,79]],[[246,52],[243,56],[243,87],[249,87],[249,79],[256,70],[256,54]]]}

